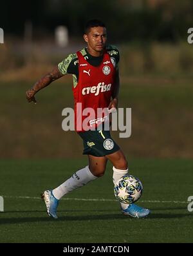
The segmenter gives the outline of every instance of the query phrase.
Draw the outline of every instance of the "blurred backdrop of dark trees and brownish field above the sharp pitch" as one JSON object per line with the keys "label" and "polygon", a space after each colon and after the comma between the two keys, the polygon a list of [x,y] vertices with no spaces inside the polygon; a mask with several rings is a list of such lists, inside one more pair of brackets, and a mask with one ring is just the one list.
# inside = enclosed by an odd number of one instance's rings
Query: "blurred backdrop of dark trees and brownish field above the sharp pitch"
{"label": "blurred backdrop of dark trees and brownish field above the sharp pitch", "polygon": [[[62,109],[73,107],[71,76],[28,104],[25,91],[70,52],[84,47],[84,23],[106,23],[109,43],[120,50],[120,105],[132,109],[132,135],[115,140],[128,157],[192,158],[193,2],[4,1],[0,27],[0,157],[82,157],[82,141],[62,131]],[[55,28],[68,28],[60,47]]]}

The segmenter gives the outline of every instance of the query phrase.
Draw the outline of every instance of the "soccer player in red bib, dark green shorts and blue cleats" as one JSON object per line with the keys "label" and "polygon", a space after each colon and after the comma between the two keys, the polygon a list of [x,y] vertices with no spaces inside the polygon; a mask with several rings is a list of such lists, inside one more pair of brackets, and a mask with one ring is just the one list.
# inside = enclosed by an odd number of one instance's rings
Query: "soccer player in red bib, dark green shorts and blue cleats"
{"label": "soccer player in red bib, dark green shorts and blue cleats", "polygon": [[[75,129],[83,140],[84,155],[88,157],[88,165],[76,171],[71,178],[64,181],[55,189],[46,190],[42,198],[46,203],[47,213],[57,219],[57,206],[64,195],[86,185],[91,180],[104,175],[107,160],[113,164],[114,184],[122,176],[127,175],[128,166],[124,153],[111,137],[109,130],[104,129],[107,122],[103,116],[95,119],[90,116],[91,129],[84,129],[82,123],[86,116],[78,110],[81,103],[82,110],[87,107],[96,111],[107,108],[109,112],[118,106],[119,83],[119,52],[116,47],[107,45],[106,25],[102,21],[93,19],[86,23],[84,41],[87,47],[76,53],[69,54],[53,70],[26,92],[28,102],[36,103],[35,94],[66,74],[73,75],[73,95],[75,100]],[[77,115],[79,118],[76,118]],[[81,117],[81,118],[80,118]],[[98,117],[98,116],[97,116]],[[80,123],[82,120],[82,123]],[[97,129],[92,129],[93,127]],[[149,209],[136,204],[122,204],[120,208],[124,215],[131,217],[146,217]]]}

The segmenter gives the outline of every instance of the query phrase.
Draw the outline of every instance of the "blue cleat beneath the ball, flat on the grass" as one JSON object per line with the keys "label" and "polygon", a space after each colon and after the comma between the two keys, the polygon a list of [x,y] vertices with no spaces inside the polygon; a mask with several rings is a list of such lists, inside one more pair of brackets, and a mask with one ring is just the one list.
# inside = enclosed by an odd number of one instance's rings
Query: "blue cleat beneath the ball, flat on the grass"
{"label": "blue cleat beneath the ball, flat on the grass", "polygon": [[140,206],[137,206],[136,204],[129,204],[126,209],[122,209],[122,213],[124,213],[124,215],[129,215],[134,218],[144,218],[149,215],[150,211],[149,209],[142,208]]}

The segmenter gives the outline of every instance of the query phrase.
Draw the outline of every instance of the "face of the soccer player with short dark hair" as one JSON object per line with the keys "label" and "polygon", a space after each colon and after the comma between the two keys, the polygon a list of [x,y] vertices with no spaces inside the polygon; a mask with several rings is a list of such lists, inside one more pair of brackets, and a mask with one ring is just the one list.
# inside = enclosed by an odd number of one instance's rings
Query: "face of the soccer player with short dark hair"
{"label": "face of the soccer player with short dark hair", "polygon": [[84,40],[87,43],[88,51],[93,56],[103,53],[107,41],[107,31],[104,27],[90,28],[87,34],[84,34]]}

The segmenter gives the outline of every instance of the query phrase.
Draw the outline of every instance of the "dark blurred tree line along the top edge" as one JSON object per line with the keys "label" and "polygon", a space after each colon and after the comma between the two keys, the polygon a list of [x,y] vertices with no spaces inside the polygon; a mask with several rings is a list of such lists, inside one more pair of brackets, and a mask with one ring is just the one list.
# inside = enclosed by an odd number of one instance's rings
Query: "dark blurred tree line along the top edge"
{"label": "dark blurred tree line along the top edge", "polygon": [[70,36],[80,36],[87,19],[102,19],[113,39],[184,40],[193,24],[191,0],[33,0],[1,2],[0,25],[6,34],[23,36],[31,21],[33,36],[51,34],[66,25]]}

